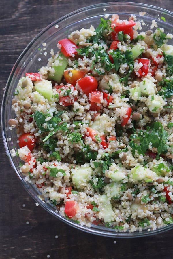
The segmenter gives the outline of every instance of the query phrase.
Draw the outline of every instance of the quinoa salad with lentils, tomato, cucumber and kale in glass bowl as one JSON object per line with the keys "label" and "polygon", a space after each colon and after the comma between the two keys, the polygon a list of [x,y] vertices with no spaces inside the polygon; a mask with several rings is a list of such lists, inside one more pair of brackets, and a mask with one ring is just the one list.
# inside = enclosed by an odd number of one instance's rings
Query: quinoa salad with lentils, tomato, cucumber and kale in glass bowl
{"label": "quinoa salad with lentils, tomato, cucumber and kale in glass bowl", "polygon": [[115,232],[173,223],[172,37],[107,15],[19,80],[11,153],[61,216]]}

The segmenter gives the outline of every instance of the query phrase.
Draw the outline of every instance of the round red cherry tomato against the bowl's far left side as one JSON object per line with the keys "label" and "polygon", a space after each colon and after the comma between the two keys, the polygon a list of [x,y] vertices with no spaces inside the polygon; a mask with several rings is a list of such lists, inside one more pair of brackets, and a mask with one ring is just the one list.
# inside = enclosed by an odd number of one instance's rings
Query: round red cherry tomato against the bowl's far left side
{"label": "round red cherry tomato against the bowl's far left side", "polygon": [[18,141],[20,148],[27,146],[29,150],[32,151],[35,146],[36,139],[31,133],[23,133],[19,136]]}

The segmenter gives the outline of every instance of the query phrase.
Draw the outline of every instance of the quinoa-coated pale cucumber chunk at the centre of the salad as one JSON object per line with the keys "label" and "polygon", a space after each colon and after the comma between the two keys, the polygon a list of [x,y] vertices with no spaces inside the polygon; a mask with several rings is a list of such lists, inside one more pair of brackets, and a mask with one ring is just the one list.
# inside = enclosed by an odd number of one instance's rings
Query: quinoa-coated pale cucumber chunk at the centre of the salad
{"label": "quinoa-coated pale cucumber chunk at the centre of the salad", "polygon": [[90,127],[98,132],[109,132],[108,127],[111,127],[110,117],[105,113],[97,117],[98,119],[95,119]]}

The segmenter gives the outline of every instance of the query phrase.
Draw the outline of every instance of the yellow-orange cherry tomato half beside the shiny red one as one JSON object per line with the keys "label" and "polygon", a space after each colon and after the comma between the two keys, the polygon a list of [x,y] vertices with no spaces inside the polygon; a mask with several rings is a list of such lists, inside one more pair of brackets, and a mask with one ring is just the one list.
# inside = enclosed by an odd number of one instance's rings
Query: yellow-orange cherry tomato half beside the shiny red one
{"label": "yellow-orange cherry tomato half beside the shiny red one", "polygon": [[82,77],[84,77],[85,72],[80,70],[66,70],[64,72],[64,78],[67,83],[71,83],[72,85],[76,85],[76,81]]}

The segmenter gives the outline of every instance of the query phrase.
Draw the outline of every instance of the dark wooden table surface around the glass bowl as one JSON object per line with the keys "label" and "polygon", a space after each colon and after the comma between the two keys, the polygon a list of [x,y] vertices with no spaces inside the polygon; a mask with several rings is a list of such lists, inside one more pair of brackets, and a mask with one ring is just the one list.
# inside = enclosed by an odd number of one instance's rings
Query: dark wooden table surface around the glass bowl
{"label": "dark wooden table surface around the glass bowl", "polygon": [[[101,2],[106,1],[1,0],[1,102],[10,71],[31,39],[44,27],[64,14]],[[173,11],[172,0],[138,2],[153,4]],[[10,167],[2,137],[0,140],[1,259],[138,257],[169,259],[173,257],[173,231],[135,239],[99,237],[76,230],[48,214],[42,207],[37,207]]]}

